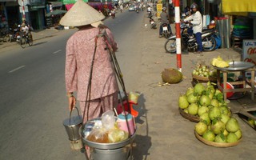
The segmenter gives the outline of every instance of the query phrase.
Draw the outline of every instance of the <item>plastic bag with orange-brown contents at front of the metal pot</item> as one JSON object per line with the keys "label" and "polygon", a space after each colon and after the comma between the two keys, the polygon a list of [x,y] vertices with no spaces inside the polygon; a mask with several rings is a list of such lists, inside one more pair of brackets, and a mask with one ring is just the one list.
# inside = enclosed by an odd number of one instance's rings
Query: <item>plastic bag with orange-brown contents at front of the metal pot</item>
{"label": "plastic bag with orange-brown contents at front of the metal pot", "polygon": [[87,140],[91,142],[108,143],[108,133],[104,128],[96,128],[90,131]]}

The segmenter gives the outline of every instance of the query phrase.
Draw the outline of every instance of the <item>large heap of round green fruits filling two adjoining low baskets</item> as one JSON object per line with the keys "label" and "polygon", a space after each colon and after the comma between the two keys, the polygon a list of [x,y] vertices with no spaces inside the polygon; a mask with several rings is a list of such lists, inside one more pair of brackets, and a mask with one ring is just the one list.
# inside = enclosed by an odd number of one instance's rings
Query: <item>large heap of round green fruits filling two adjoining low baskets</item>
{"label": "large heap of round green fruits filling two adjoining low baskets", "polygon": [[222,92],[215,90],[211,82],[188,88],[178,98],[178,106],[187,114],[198,116],[194,130],[207,141],[229,143],[242,138],[237,119],[232,117]]}

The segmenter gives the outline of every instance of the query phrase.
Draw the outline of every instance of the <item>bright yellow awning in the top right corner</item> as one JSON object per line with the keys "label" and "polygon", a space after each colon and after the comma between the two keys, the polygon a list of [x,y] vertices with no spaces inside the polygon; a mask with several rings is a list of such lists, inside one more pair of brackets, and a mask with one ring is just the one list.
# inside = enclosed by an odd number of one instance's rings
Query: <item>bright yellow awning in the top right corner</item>
{"label": "bright yellow awning in the top right corner", "polygon": [[222,0],[222,13],[232,15],[247,15],[256,12],[255,0]]}

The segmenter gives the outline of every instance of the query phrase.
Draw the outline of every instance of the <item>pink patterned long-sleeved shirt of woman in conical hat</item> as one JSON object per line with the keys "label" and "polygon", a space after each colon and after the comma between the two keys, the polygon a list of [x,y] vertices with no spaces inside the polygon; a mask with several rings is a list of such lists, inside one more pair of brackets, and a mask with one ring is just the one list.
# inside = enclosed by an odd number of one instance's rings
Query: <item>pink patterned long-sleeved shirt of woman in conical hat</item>
{"label": "pink patterned long-sleeved shirt of woman in conical hat", "polygon": [[[66,43],[66,91],[77,91],[78,101],[86,101],[95,36],[98,33],[98,28],[84,26],[74,33]],[[110,38],[110,46],[114,51],[117,50],[117,44],[109,29],[106,29],[106,34]],[[104,38],[98,38],[90,99],[105,97],[117,90],[117,81],[110,62],[110,54],[106,50],[106,42]]]}

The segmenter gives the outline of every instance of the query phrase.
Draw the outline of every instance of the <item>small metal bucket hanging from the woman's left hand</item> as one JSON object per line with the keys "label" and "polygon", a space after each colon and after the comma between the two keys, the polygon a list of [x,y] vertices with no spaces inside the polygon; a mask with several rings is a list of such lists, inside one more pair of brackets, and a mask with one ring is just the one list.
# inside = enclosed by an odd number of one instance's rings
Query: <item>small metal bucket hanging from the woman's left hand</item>
{"label": "small metal bucket hanging from the woman's left hand", "polygon": [[[78,111],[78,108],[75,107]],[[66,133],[69,136],[70,141],[77,141],[81,139],[80,128],[82,126],[82,117],[78,116],[71,117],[72,110],[70,111],[70,118],[64,120],[63,125],[65,126]]]}

